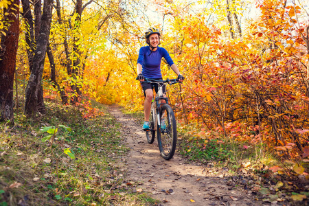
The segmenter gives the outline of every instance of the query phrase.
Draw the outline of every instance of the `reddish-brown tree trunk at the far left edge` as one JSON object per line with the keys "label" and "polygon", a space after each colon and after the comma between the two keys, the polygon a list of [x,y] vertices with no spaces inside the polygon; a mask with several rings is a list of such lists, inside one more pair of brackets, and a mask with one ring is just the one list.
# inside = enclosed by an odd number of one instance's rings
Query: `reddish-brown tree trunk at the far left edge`
{"label": "reddish-brown tree trunk at the far left edge", "polygon": [[0,47],[0,120],[10,119],[14,123],[13,87],[16,71],[16,54],[19,44],[19,0],[14,0],[3,9],[3,22],[8,25],[1,34]]}

